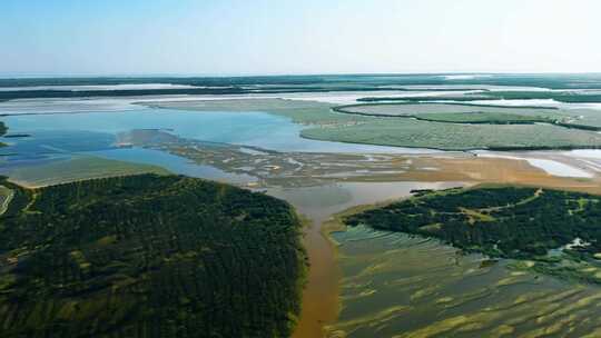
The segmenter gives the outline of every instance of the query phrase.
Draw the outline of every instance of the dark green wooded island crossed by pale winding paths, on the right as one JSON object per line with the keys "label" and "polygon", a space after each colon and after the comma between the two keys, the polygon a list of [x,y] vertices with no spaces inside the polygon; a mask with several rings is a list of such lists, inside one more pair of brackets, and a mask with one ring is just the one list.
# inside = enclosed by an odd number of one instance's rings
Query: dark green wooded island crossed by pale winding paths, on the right
{"label": "dark green wooded island crossed by pale winding paths, on the right", "polygon": [[465,252],[514,259],[516,268],[601,282],[601,197],[526,187],[417,191],[345,218],[443,240]]}

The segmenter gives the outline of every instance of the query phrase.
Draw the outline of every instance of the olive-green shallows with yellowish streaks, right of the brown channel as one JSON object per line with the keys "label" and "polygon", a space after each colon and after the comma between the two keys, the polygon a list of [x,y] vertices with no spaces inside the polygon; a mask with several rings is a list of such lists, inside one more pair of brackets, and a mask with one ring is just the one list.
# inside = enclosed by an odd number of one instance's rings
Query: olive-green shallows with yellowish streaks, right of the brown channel
{"label": "olive-green shallows with yellowish streaks, right of the brown channel", "polygon": [[599,337],[601,292],[365,227],[335,232],[342,311],[331,337]]}

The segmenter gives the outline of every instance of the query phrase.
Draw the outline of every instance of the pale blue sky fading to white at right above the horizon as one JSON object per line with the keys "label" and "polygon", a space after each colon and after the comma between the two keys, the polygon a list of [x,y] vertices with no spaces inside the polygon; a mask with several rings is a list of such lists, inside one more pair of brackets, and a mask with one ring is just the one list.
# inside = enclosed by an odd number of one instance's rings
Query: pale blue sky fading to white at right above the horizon
{"label": "pale blue sky fading to white at right above the horizon", "polygon": [[601,72],[599,0],[0,0],[0,76]]}

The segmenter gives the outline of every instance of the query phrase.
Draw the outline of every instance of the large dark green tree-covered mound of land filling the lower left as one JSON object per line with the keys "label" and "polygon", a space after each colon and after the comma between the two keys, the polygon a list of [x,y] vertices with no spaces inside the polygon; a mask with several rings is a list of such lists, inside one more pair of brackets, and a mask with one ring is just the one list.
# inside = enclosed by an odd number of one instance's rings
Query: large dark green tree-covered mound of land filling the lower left
{"label": "large dark green tree-covered mound of land filling the lower left", "polygon": [[6,180],[1,337],[287,337],[305,252],[284,201],[181,176]]}

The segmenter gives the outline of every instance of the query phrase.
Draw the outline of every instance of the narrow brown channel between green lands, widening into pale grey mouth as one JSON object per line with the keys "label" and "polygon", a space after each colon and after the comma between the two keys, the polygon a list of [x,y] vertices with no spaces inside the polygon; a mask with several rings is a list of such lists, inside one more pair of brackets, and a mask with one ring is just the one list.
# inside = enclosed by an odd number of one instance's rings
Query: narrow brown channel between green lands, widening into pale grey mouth
{"label": "narrow brown channel between green lands, widening into pale grey mouth", "polygon": [[323,222],[351,207],[407,197],[412,189],[444,189],[461,182],[343,182],[306,188],[272,188],[267,193],[292,203],[311,220],[305,229],[304,246],[309,254],[309,276],[303,296],[303,312],[295,338],[322,337],[324,325],[338,315],[341,271],[336,252]]}

